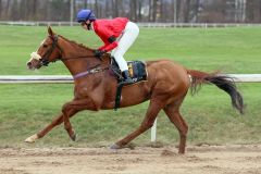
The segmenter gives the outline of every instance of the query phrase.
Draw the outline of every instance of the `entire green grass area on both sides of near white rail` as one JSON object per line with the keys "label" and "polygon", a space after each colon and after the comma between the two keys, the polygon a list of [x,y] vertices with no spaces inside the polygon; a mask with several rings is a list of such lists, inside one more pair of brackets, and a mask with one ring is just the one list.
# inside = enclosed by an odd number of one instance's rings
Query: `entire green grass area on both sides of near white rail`
{"label": "entire green grass area on both sides of near white rail", "polygon": [[[53,27],[66,38],[97,48],[101,45],[94,33],[79,27]],[[46,37],[46,27],[0,26],[0,75],[69,74],[61,62],[36,72],[26,69],[29,53]],[[172,59],[188,69],[225,73],[261,73],[261,30],[239,28],[141,28],[138,40],[127,52],[127,60]],[[226,94],[204,86],[194,97],[187,96],[182,113],[189,126],[188,144],[260,144],[261,84],[238,84],[246,101],[240,116],[231,108]],[[23,140],[44,128],[73,98],[73,85],[0,85],[0,147],[23,147]],[[32,145],[104,146],[134,130],[142,121],[148,103],[115,111],[84,111],[72,119],[78,134],[76,142],[63,126]],[[150,132],[134,142],[147,145]],[[158,122],[158,140],[177,144],[178,133],[163,112]]]}

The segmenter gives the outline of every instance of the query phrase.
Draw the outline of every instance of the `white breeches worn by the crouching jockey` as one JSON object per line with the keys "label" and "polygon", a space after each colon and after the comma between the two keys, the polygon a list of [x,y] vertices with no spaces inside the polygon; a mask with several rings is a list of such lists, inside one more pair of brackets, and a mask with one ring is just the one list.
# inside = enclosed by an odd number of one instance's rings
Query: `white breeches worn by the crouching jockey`
{"label": "white breeches worn by the crouching jockey", "polygon": [[138,26],[133,22],[127,22],[123,34],[119,37],[117,47],[114,48],[111,52],[112,57],[114,57],[122,72],[128,70],[127,62],[124,60],[123,55],[134,44],[138,34]]}

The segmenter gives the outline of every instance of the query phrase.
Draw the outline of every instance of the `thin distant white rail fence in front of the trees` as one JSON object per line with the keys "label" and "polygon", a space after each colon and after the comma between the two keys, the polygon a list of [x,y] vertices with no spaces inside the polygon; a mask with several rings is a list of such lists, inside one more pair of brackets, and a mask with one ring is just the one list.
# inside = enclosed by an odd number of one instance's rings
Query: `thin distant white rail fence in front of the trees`
{"label": "thin distant white rail fence in front of the trees", "polygon": [[[140,27],[239,27],[261,26],[261,24],[245,23],[137,23]],[[0,21],[0,25],[18,26],[77,26],[77,22],[52,22],[52,21]]]}

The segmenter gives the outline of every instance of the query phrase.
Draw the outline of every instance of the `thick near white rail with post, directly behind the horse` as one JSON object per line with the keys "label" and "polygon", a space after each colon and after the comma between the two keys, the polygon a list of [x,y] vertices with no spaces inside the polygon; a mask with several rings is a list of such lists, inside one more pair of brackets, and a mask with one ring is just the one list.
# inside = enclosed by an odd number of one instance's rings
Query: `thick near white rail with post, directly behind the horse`
{"label": "thick near white rail with post, directly behind the horse", "polygon": [[[236,83],[260,83],[261,74],[228,74]],[[0,84],[71,84],[73,77],[71,75],[2,75]],[[151,127],[151,141],[157,139],[157,120]]]}

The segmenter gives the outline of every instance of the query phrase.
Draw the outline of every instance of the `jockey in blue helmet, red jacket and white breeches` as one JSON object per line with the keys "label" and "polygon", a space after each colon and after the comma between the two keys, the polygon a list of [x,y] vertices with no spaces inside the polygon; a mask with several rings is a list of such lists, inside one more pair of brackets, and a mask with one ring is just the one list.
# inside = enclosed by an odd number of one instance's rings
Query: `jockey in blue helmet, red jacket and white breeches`
{"label": "jockey in blue helmet, red jacket and white breeches", "polygon": [[95,33],[104,42],[104,46],[95,50],[95,55],[100,58],[103,53],[112,51],[120,70],[122,71],[125,83],[133,83],[129,77],[127,62],[123,55],[136,40],[139,28],[125,17],[116,17],[112,20],[97,20],[91,10],[80,10],[77,14],[77,22],[84,29],[95,30]]}

